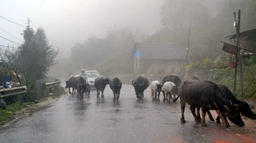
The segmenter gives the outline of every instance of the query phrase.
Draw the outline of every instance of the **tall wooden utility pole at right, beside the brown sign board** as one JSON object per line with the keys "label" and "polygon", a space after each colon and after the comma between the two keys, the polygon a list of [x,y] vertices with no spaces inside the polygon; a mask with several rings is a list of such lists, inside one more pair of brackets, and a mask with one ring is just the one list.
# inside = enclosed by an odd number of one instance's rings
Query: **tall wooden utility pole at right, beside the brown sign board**
{"label": "tall wooden utility pole at right, beside the brown sign board", "polygon": [[[239,56],[239,69],[240,69],[240,87],[241,87],[241,96],[244,96],[244,87],[243,87],[243,71],[242,71],[242,58],[241,58],[241,48],[239,43],[239,31],[240,31],[240,21],[241,21],[241,11],[238,10],[238,18],[236,18],[236,12],[234,12],[234,19],[235,19],[235,27],[236,27],[236,46],[238,48],[238,56]],[[235,83],[234,83],[235,84]]]}

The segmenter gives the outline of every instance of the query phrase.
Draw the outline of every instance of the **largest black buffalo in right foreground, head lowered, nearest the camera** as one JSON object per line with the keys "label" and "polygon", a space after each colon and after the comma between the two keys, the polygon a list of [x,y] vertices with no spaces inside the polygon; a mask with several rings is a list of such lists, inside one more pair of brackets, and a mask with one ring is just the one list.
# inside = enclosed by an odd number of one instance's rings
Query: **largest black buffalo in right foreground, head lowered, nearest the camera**
{"label": "largest black buffalo in right foreground, head lowered, nearest the camera", "polygon": [[[184,110],[186,103],[188,103],[195,121],[201,123],[202,126],[206,126],[205,115],[207,110],[216,110],[225,127],[230,125],[224,115],[227,115],[230,121],[238,126],[244,126],[239,110],[232,104],[232,102],[230,102],[230,100],[224,98],[224,93],[221,89],[217,84],[211,81],[187,79],[180,85],[177,98],[179,97],[181,104],[181,123],[186,123]],[[173,102],[175,102],[177,98]],[[198,120],[195,113],[196,107],[202,107],[201,121]]]}

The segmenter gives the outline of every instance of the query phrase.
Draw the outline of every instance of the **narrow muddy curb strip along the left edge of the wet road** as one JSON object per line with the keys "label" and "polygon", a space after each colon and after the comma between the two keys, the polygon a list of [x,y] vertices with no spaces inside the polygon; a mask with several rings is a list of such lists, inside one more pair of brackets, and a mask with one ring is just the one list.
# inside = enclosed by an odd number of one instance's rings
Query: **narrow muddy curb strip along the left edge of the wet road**
{"label": "narrow muddy curb strip along the left edge of the wet road", "polygon": [[20,118],[27,117],[36,111],[51,107],[55,101],[58,101],[59,99],[66,97],[66,93],[67,92],[65,91],[62,95],[56,98],[48,97],[46,100],[34,104],[31,107],[24,107],[23,109],[20,109],[20,111],[14,112],[14,115],[12,115],[11,118],[9,118],[6,121],[0,122],[0,129],[6,128],[15,123],[16,121],[18,121]]}

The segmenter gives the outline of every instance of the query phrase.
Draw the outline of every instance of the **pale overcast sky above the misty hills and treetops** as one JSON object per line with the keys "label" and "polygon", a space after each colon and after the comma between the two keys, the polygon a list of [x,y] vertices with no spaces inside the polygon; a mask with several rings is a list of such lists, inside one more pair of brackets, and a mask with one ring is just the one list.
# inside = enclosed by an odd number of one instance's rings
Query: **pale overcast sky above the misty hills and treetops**
{"label": "pale overcast sky above the misty hills and treetops", "polygon": [[[48,39],[63,50],[89,36],[104,37],[110,28],[139,28],[153,34],[160,28],[162,0],[1,0],[0,16],[20,25],[30,18],[31,27],[43,27]],[[0,28],[23,40],[24,27],[0,17]],[[22,43],[0,30],[0,36]],[[0,45],[13,45],[0,37]],[[17,45],[14,44],[16,47]]]}

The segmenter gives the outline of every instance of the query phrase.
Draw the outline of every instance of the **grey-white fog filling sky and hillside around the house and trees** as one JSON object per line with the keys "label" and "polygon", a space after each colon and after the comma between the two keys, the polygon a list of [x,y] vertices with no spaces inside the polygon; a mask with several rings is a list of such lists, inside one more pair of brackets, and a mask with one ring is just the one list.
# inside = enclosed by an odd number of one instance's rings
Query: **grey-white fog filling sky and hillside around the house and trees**
{"label": "grey-white fog filling sky and hillside around the house and trees", "polygon": [[[242,11],[241,30],[256,26],[254,5],[253,0],[2,0],[0,16],[25,26],[30,18],[35,31],[44,28],[61,49],[50,76],[82,68],[112,76],[133,74],[129,59],[135,43],[187,45],[189,27],[189,58],[214,60],[223,52],[220,41],[235,32],[233,11]],[[2,17],[0,28],[17,39],[1,29],[0,36],[22,44],[25,27]],[[0,38],[0,45],[18,46],[6,39]]]}

